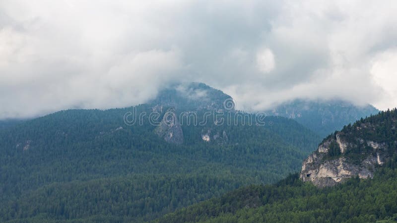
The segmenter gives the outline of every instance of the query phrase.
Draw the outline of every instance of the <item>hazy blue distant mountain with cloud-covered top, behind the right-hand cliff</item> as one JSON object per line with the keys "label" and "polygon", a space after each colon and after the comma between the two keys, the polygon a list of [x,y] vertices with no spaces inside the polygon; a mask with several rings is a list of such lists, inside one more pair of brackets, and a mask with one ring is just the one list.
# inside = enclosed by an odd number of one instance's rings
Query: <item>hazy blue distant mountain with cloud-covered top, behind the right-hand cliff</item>
{"label": "hazy blue distant mountain with cloud-covered top, behind the right-hand cliff", "polygon": [[342,100],[303,99],[285,102],[273,110],[266,111],[270,115],[292,118],[321,137],[326,137],[343,128],[344,125],[378,112],[371,105],[359,107]]}

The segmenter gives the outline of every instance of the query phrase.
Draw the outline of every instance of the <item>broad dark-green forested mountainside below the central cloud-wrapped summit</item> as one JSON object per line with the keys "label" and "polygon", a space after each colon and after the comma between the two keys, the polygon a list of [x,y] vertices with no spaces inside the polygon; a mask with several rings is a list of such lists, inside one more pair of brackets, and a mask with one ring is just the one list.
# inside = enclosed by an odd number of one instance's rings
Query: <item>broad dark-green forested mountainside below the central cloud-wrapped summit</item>
{"label": "broad dark-green forested mountainside below the central cloud-wrapped summit", "polygon": [[223,102],[206,94],[177,108],[67,110],[0,130],[0,222],[153,220],[276,182],[320,141],[291,119],[212,110]]}

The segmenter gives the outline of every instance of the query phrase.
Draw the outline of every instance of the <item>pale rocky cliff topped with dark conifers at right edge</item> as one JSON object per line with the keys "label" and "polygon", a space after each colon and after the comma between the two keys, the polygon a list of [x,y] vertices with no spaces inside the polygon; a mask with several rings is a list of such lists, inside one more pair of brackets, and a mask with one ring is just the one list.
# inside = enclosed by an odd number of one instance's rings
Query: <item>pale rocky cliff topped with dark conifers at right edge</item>
{"label": "pale rocky cliff topped with dark conifers at right edge", "polygon": [[319,187],[348,178],[372,178],[397,148],[397,112],[361,119],[326,138],[303,161],[300,178]]}

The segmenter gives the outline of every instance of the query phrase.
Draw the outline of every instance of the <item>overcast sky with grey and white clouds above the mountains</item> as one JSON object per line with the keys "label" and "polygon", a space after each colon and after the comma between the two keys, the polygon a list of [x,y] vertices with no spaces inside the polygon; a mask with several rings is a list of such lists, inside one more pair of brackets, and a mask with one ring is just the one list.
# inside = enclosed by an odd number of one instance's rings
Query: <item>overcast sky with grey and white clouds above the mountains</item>
{"label": "overcast sky with grey and white clouds above the mountains", "polygon": [[1,0],[0,118],[128,107],[178,81],[244,110],[397,107],[397,1]]}

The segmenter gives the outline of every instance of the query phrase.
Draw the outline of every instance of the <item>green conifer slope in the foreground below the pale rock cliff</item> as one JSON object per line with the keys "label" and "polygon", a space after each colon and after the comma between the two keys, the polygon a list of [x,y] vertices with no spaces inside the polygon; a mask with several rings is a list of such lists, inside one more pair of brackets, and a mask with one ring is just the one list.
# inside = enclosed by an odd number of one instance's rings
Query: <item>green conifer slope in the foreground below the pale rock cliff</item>
{"label": "green conifer slope in the foreground below the pale rock cliff", "polygon": [[303,184],[250,186],[168,214],[159,223],[335,223],[397,221],[397,169],[382,168],[373,179],[351,179],[333,188]]}

